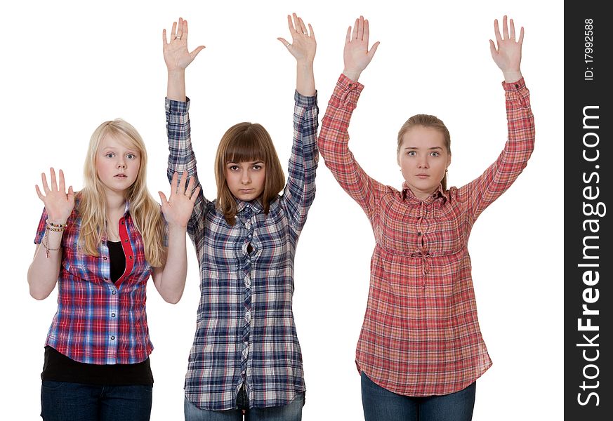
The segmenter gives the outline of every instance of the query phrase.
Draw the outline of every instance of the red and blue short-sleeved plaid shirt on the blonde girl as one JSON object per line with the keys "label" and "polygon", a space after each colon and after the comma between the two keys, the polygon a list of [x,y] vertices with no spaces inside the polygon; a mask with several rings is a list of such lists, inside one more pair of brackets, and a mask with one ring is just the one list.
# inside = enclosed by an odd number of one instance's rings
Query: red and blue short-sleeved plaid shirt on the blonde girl
{"label": "red and blue short-sleeved plaid shirt on the blonde girl", "polygon": [[[119,220],[119,236],[126,255],[126,270],[111,281],[109,248],[100,243],[98,257],[77,248],[81,218],[75,209],[62,236],[62,262],[58,279],[58,311],[53,316],[45,345],[65,356],[90,364],[132,364],[145,361],[153,350],[147,327],[145,300],[151,267],[145,260],[143,239],[126,204]],[[46,210],[34,243],[45,233]]]}

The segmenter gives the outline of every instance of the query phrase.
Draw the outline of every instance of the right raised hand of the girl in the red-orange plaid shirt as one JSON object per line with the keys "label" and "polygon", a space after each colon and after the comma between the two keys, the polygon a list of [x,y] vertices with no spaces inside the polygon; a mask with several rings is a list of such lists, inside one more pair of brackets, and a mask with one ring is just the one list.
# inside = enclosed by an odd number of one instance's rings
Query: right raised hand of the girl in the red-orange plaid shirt
{"label": "right raised hand of the girl in the red-orange plaid shirt", "polygon": [[494,41],[489,40],[489,51],[492,53],[494,62],[502,70],[506,82],[518,81],[522,77],[520,63],[522,62],[524,27],[520,29],[520,38],[515,41],[515,24],[511,19],[509,32],[505,15],[502,20],[502,36],[500,35],[498,20],[494,20],[494,36],[496,36],[498,48],[496,48]]}

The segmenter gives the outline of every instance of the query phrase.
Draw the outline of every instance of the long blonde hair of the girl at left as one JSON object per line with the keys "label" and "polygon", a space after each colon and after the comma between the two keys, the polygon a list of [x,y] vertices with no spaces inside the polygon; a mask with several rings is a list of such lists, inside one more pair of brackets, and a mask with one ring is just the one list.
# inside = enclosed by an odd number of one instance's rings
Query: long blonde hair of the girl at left
{"label": "long blonde hair of the girl at left", "polygon": [[106,135],[124,140],[129,147],[140,154],[140,168],[136,181],[126,191],[130,203],[130,215],[136,229],[143,237],[145,258],[153,267],[164,264],[164,220],[159,204],[154,201],[147,189],[147,151],[145,142],[136,128],[122,119],[105,121],[95,129],[89,141],[84,165],[85,187],[79,192],[77,211],[81,217],[79,247],[88,255],[98,256],[98,245],[107,234],[106,194],[95,169],[95,156],[100,141]]}

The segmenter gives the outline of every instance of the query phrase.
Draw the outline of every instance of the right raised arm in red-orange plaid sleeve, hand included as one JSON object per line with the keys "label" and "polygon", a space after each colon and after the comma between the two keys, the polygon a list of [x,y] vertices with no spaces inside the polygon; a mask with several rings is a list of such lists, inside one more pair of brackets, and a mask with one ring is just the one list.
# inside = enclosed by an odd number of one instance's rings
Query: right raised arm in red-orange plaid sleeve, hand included
{"label": "right raised arm in red-orange plaid sleeve, hand included", "polygon": [[508,139],[498,159],[468,185],[460,189],[461,196],[468,200],[468,213],[475,220],[480,213],[515,182],[527,165],[534,150],[534,116],[530,108],[530,93],[522,77],[522,43],[524,28],[515,40],[515,25],[503,18],[503,33],[498,20],[494,20],[494,41],[489,40],[492,58],[504,75],[502,83],[506,98]]}

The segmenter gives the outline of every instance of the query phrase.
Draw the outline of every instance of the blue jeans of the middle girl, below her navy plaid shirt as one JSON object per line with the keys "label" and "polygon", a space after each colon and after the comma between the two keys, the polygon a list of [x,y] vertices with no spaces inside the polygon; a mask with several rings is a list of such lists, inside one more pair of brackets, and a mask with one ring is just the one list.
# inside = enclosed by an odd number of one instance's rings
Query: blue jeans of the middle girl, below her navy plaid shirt
{"label": "blue jeans of the middle girl, below her navy plaid shirt", "polygon": [[[242,407],[237,399],[239,408]],[[269,408],[249,408],[246,401],[245,421],[301,421],[302,407],[304,406],[304,392],[296,394],[296,399],[284,406],[271,406]],[[242,421],[242,409],[205,410],[199,409],[185,399],[185,421]]]}

